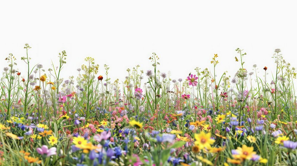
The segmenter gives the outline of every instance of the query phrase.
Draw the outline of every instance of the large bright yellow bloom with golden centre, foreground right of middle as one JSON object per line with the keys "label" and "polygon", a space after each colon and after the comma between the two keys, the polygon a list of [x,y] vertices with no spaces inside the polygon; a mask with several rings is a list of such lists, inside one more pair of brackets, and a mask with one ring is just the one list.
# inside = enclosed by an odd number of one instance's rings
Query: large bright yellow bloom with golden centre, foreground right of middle
{"label": "large bright yellow bloom with golden centre, foreground right of middle", "polygon": [[203,131],[199,134],[195,134],[195,145],[199,146],[199,149],[203,148],[211,148],[210,145],[212,145],[215,140],[211,139],[211,133],[204,133]]}

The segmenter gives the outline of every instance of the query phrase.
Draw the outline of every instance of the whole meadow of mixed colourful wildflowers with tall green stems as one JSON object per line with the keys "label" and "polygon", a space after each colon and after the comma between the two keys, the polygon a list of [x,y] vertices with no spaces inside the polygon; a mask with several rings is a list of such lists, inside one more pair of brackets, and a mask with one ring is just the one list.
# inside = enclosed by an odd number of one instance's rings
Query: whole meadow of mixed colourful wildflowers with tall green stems
{"label": "whole meadow of mixed colourful wildflowers with tall green stems", "polygon": [[159,71],[162,55],[152,53],[149,69],[119,66],[124,80],[92,57],[62,78],[71,55],[46,69],[31,49],[1,59],[0,165],[297,165],[296,69],[280,49],[267,67],[234,49],[231,76],[217,75],[222,57],[209,55],[211,68],[180,78]]}

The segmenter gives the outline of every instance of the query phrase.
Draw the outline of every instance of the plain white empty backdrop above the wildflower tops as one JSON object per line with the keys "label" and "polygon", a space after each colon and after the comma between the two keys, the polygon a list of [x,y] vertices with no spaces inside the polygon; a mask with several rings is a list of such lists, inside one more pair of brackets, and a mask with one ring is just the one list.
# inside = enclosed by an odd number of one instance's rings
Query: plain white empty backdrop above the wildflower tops
{"label": "plain white empty backdrop above the wildflower tops", "polygon": [[77,76],[91,56],[99,74],[105,76],[108,64],[112,82],[123,80],[127,68],[151,69],[148,58],[156,52],[159,70],[171,71],[173,79],[212,67],[214,54],[218,76],[228,70],[232,79],[240,67],[236,48],[247,52],[248,72],[257,64],[260,74],[267,66],[271,75],[276,48],[296,67],[296,4],[286,1],[1,1],[0,14],[0,67],[13,53],[22,75],[25,43],[32,64],[45,70],[66,50],[64,78]]}

